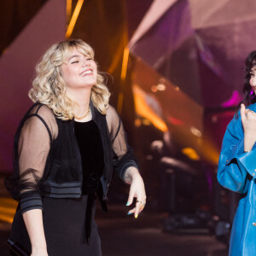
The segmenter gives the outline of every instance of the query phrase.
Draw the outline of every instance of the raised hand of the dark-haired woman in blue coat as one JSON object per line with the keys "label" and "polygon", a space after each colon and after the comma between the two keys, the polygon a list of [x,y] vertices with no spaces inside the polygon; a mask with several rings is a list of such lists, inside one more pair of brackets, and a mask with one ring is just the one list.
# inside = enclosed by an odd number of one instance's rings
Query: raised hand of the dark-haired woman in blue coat
{"label": "raised hand of the dark-haired woman in blue coat", "polygon": [[244,131],[244,150],[250,151],[256,142],[256,113],[241,104],[241,124]]}

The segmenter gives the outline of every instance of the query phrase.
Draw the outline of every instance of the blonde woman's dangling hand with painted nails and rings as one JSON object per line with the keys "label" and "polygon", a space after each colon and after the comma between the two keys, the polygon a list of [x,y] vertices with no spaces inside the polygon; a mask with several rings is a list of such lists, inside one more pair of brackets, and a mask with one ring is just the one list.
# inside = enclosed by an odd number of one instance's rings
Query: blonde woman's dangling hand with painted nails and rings
{"label": "blonde woman's dangling hand with painted nails and rings", "polygon": [[131,187],[126,206],[131,206],[134,198],[136,198],[137,201],[136,206],[127,214],[130,215],[134,213],[134,217],[137,218],[138,214],[143,211],[146,205],[147,196],[145,192],[145,186],[143,183],[143,177],[141,177],[136,168],[131,168],[131,170],[128,171],[128,176],[128,179],[131,181]]}

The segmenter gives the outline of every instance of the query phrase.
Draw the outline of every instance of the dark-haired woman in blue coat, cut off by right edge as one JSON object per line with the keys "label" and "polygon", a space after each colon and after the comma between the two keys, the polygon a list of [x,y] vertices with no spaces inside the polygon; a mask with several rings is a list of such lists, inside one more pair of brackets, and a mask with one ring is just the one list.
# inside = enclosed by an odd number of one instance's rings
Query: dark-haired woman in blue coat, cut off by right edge
{"label": "dark-haired woman in blue coat, cut off by right edge", "polygon": [[230,256],[256,255],[256,51],[246,60],[241,109],[227,126],[218,182],[241,193],[230,236]]}

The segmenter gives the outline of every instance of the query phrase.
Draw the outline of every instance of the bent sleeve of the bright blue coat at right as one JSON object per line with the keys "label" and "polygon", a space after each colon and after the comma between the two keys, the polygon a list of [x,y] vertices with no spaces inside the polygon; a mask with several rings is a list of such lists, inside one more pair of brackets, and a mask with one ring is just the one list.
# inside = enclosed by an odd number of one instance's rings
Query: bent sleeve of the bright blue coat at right
{"label": "bent sleeve of the bright blue coat at right", "polygon": [[[244,153],[243,138],[239,112],[238,117],[234,117],[230,121],[225,131],[218,160],[217,178],[218,183],[224,188],[242,194],[246,193],[248,189],[250,175],[247,166],[250,166],[249,163],[252,161],[250,158],[247,159],[249,153]],[[252,155],[255,154],[253,151]]]}

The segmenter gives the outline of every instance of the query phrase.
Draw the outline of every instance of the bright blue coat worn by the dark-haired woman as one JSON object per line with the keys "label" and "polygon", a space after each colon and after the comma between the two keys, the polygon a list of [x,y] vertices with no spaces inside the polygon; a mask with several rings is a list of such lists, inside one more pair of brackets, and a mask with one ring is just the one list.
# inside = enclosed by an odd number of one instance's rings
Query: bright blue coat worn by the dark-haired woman
{"label": "bright blue coat worn by the dark-haired woman", "polygon": [[[256,112],[256,104],[248,107]],[[256,255],[256,148],[244,153],[243,128],[238,113],[224,134],[218,161],[218,182],[244,194],[239,201],[230,236],[230,256]]]}

